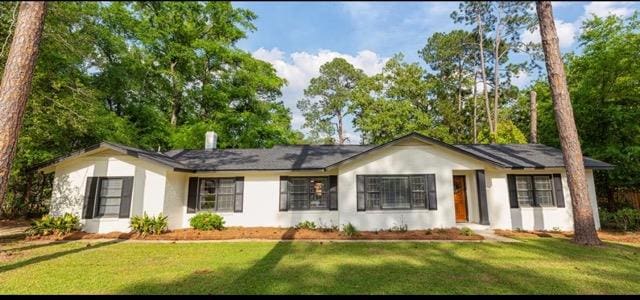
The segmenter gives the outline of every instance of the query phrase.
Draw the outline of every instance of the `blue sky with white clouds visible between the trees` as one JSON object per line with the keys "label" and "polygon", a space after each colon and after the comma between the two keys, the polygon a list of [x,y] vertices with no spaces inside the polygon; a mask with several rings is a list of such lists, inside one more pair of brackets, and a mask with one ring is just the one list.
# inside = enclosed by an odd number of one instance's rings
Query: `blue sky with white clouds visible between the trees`
{"label": "blue sky with white clouds visible between the trees", "polygon": [[[238,43],[254,57],[274,65],[289,84],[282,100],[293,114],[293,127],[304,119],[296,108],[309,80],[320,66],[343,57],[368,74],[402,52],[409,62],[424,63],[417,51],[435,32],[463,28],[449,17],[458,2],[233,2],[258,15],[257,31]],[[554,17],[563,52],[577,49],[580,24],[592,13],[627,16],[640,9],[637,2],[553,2]],[[523,39],[539,40],[538,32]],[[519,74],[515,83],[526,86],[536,74]],[[306,131],[306,130],[303,130]],[[358,143],[351,121],[351,143]]]}

